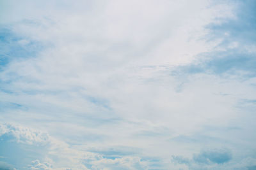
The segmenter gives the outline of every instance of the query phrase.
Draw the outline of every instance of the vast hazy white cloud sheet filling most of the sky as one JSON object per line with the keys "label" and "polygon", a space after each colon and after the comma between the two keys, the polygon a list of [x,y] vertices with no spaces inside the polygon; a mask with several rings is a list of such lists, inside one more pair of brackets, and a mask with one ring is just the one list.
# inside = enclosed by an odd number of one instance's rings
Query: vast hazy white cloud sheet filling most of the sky
{"label": "vast hazy white cloud sheet filling most of the sky", "polygon": [[[170,155],[191,156],[203,145],[170,139],[202,132],[205,125],[249,128],[238,121],[245,113],[234,106],[253,99],[255,80],[172,75],[175,66],[195,62],[198,53],[218,43],[202,39],[204,26],[215,17],[234,17],[233,6],[202,0],[26,4],[33,7],[12,16],[10,27],[21,45],[43,47],[1,71],[0,101],[24,109],[6,108],[0,120],[47,132],[1,127],[1,134],[15,136],[18,143],[49,145],[31,168],[86,169],[83,161],[89,160],[92,169],[147,169],[150,160],[142,158],[155,157],[168,169]],[[18,4],[10,8],[21,9]],[[237,134],[207,135],[232,141]],[[238,143],[244,146],[249,138],[245,133]],[[109,148],[119,148],[118,157],[105,158]]]}

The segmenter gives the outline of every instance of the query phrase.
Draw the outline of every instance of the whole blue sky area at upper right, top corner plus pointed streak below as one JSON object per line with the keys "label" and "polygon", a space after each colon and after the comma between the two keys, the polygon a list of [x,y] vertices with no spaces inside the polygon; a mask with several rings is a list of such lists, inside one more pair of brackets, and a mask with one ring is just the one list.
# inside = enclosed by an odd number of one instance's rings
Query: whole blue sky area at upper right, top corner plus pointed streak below
{"label": "whole blue sky area at upper right, top corner plus pointed streak below", "polygon": [[198,55],[197,62],[180,66],[173,74],[236,74],[243,78],[256,76],[256,2],[236,1],[235,18],[216,18],[207,25],[206,42],[221,42],[211,52]]}

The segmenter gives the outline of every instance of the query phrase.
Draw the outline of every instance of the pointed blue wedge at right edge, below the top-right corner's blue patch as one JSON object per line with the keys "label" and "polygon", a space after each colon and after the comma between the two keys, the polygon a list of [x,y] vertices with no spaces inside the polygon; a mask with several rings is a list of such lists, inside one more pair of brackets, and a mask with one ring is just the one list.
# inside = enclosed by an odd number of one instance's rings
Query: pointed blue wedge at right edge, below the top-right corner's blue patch
{"label": "pointed blue wedge at right edge, below the top-right corner's blue patch", "polygon": [[[251,53],[239,52],[239,50],[228,50],[227,52],[205,53],[209,60],[202,60],[198,64],[179,67],[173,73],[196,74],[241,74],[243,78],[256,76],[256,57]],[[239,73],[243,71],[243,73]]]}

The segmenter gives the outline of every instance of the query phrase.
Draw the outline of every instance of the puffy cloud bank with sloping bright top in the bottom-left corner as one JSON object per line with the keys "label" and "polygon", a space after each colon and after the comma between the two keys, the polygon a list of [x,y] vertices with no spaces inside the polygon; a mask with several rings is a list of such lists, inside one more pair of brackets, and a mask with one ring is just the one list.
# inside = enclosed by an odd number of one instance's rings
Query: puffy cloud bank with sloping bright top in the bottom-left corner
{"label": "puffy cloud bank with sloping bright top in the bottom-left corner", "polygon": [[[42,170],[147,169],[147,161],[142,161],[140,157],[129,152],[104,153],[83,147],[76,148],[44,132],[17,125],[1,125],[0,129],[0,155],[3,155],[0,159],[6,161],[0,165],[4,167]],[[120,157],[111,158],[109,154],[117,154]]]}

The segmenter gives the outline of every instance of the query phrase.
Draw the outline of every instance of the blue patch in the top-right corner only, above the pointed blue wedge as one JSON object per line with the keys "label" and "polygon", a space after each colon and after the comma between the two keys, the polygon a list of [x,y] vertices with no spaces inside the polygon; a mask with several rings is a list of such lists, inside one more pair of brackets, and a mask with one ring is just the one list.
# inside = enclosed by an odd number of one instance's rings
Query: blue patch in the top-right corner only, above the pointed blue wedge
{"label": "blue patch in the top-right corner only, above the pointed blue wedge", "polygon": [[233,41],[239,41],[243,44],[255,44],[256,2],[253,0],[239,0],[233,3],[236,3],[235,18],[228,20],[216,18],[221,23],[207,25],[206,28],[209,29],[209,35],[205,38],[209,40],[223,38],[220,43],[221,46],[229,45]]}

